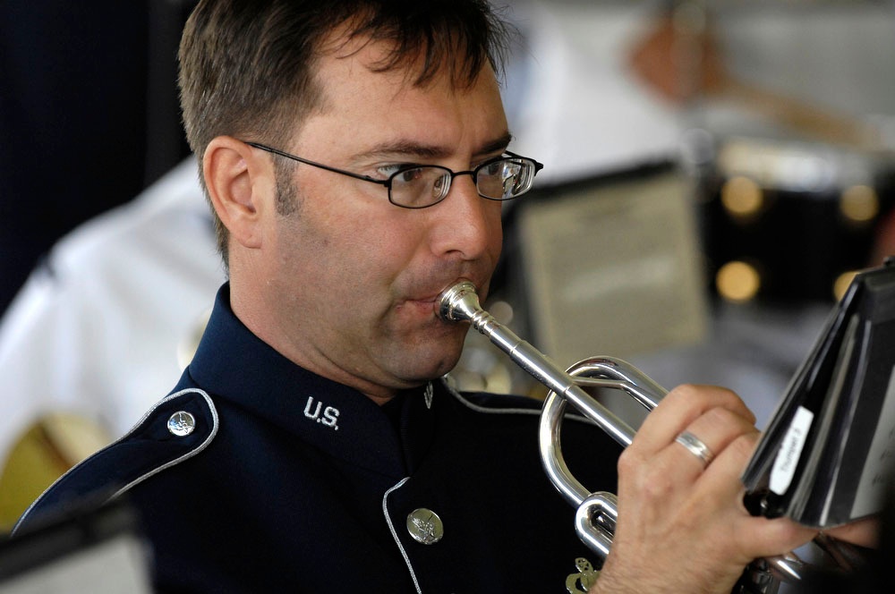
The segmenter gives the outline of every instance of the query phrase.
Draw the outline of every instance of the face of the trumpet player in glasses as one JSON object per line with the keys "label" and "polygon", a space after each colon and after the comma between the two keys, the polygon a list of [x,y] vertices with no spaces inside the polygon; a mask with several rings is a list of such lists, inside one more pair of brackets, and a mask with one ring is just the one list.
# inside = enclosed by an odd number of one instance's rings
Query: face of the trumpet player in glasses
{"label": "face of the trumpet player in glasses", "polygon": [[[379,52],[371,44],[321,59],[327,107],[285,150],[378,179],[405,164],[469,170],[503,152],[507,120],[490,68],[470,89],[444,79],[418,88],[403,70],[371,72]],[[467,326],[439,321],[436,300],[461,278],[487,291],[500,203],[479,197],[469,175],[420,210],[390,204],[382,186],[307,165],[292,180],[299,206],[270,215],[268,251],[249,276],[255,319],[266,320],[260,331],[250,327],[303,367],[375,400],[453,368]]]}

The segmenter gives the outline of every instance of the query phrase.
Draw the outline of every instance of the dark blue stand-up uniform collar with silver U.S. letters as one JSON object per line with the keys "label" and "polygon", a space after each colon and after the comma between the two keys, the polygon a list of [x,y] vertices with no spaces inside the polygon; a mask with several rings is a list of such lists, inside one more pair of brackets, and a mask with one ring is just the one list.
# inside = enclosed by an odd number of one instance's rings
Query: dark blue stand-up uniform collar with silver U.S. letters
{"label": "dark blue stand-up uniform collar with silver U.S. letters", "polygon": [[439,404],[449,401],[441,382],[401,395],[396,428],[366,395],[295,365],[253,335],[230,309],[229,289],[217,293],[187,369],[192,380],[345,462],[395,478],[413,473],[429,449]]}

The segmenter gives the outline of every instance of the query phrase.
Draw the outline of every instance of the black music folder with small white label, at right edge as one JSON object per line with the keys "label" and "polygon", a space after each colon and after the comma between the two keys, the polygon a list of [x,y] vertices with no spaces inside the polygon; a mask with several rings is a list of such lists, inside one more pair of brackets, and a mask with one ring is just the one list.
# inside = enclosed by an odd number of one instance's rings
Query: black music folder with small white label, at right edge
{"label": "black music folder with small white label, at right edge", "polygon": [[895,259],[858,274],[743,474],[746,505],[830,528],[879,513],[895,471]]}

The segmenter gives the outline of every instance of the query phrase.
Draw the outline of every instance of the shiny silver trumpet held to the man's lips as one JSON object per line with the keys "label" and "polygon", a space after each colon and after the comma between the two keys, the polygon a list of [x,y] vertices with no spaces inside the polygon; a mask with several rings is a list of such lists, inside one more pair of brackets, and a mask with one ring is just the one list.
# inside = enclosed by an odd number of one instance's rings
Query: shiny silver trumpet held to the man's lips
{"label": "shiny silver trumpet held to the man's lips", "polygon": [[[541,462],[554,486],[577,508],[575,531],[578,538],[604,561],[612,545],[618,500],[612,493],[591,493],[569,471],[559,439],[563,412],[566,404],[571,403],[620,445],[629,446],[635,430],[597,402],[582,386],[622,390],[650,411],[667,390],[629,363],[610,357],[585,359],[563,371],[549,357],[482,310],[475,285],[468,281],[448,288],[441,293],[439,301],[440,318],[447,322],[470,322],[517,365],[550,389],[541,410],[539,426]],[[805,563],[792,553],[758,559],[746,569],[734,592],[774,594],[781,581],[800,581],[804,568]]]}

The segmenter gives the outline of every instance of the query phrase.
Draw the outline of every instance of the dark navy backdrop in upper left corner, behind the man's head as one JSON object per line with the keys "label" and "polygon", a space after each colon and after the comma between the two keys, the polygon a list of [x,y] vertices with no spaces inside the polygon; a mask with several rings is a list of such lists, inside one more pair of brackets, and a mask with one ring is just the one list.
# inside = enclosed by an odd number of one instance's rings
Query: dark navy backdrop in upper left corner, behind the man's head
{"label": "dark navy backdrop in upper left corner, behind the man's head", "polygon": [[64,233],[186,155],[176,47],[193,4],[0,3],[0,309]]}

